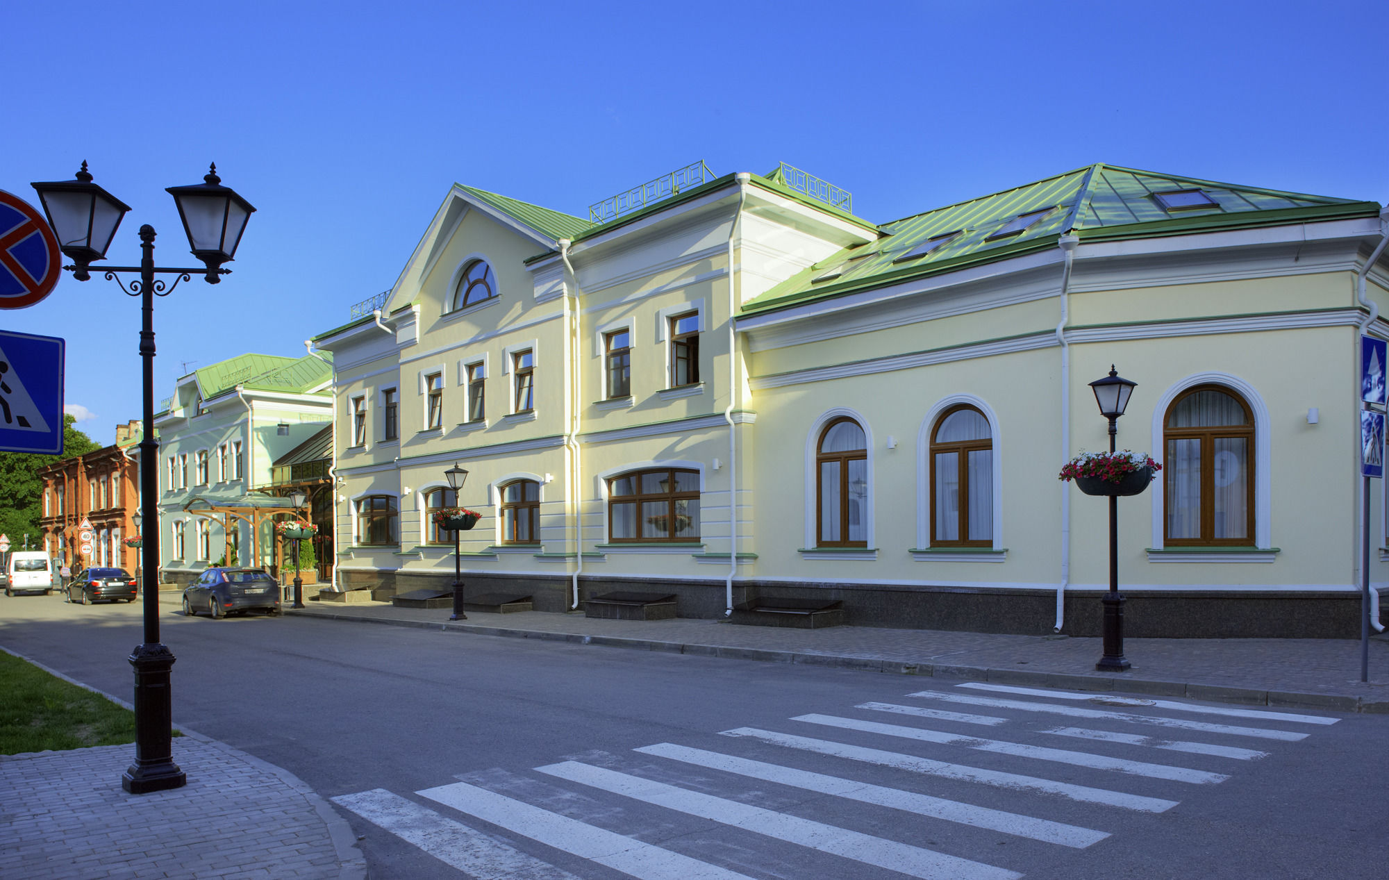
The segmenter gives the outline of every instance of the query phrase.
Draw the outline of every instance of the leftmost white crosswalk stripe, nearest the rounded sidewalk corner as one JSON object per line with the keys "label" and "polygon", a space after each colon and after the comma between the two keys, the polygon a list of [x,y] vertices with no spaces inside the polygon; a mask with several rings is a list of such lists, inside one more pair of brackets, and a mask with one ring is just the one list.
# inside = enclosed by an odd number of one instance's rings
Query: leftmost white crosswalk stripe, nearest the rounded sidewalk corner
{"label": "leftmost white crosswalk stripe, nearest the rounded sidewalk corner", "polygon": [[440,816],[385,788],[332,798],[363,819],[478,880],[578,880],[476,829]]}

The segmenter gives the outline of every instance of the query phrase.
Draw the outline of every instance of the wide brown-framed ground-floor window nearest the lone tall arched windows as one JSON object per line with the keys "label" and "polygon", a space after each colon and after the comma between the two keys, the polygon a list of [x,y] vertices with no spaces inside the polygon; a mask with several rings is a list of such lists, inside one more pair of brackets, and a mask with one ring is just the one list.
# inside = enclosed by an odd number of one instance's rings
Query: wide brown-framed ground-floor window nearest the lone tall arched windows
{"label": "wide brown-framed ground-floor window nearest the lone tall arched windows", "polygon": [[699,471],[658,468],[610,479],[608,540],[697,541]]}

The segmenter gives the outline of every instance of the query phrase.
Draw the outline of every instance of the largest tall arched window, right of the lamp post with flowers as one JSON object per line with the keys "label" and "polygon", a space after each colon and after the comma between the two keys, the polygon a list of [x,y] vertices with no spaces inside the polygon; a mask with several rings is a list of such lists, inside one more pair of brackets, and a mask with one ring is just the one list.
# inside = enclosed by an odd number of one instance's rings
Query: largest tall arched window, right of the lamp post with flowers
{"label": "largest tall arched window, right of the lamp post with flowers", "polygon": [[1254,418],[1232,390],[1199,384],[1163,422],[1164,540],[1170,545],[1253,545]]}

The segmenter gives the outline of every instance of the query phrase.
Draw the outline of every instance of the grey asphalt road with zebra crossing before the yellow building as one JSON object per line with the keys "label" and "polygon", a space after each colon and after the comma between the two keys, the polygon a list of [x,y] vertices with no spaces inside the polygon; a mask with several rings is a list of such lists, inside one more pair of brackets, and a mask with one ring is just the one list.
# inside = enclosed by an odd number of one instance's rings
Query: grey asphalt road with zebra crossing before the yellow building
{"label": "grey asphalt road with zebra crossing before the yellow building", "polygon": [[[186,619],[168,597],[161,627],[175,725],[338,798],[374,877],[1350,880],[1389,863],[1389,716]],[[139,604],[0,598],[0,645],[126,700],[140,638]],[[618,852],[633,841],[649,847]]]}

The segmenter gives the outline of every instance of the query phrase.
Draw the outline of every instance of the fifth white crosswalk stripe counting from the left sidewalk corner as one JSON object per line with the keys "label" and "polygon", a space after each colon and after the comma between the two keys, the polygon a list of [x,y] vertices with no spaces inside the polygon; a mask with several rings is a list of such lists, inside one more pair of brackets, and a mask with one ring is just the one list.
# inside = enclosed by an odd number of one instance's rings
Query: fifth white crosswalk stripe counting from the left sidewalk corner
{"label": "fifth white crosswalk stripe counting from the left sidewalk corner", "polygon": [[961,781],[978,783],[981,786],[995,786],[1013,791],[1058,794],[1072,801],[1104,804],[1107,806],[1120,806],[1122,809],[1133,809],[1143,813],[1167,812],[1178,804],[1178,801],[1150,798],[1140,794],[1110,791],[1108,788],[1092,788],[1090,786],[1076,786],[1074,783],[1058,783],[1050,779],[1022,776],[1021,773],[1006,773],[1003,770],[985,770],[982,768],[971,768],[963,763],[946,763],[945,761],[932,761],[931,758],[918,758],[917,755],[903,755],[900,752],[889,752],[881,748],[849,745],[847,743],[835,743],[833,740],[815,740],[792,733],[758,730],[757,727],[735,727],[733,730],[724,730],[722,736],[747,737],[771,745],[799,748],[808,752],[817,752],[820,755],[861,761],[864,763],[875,763],[878,766],[893,768],[897,770],[922,773],[925,776],[939,776],[942,779],[957,779]]}

